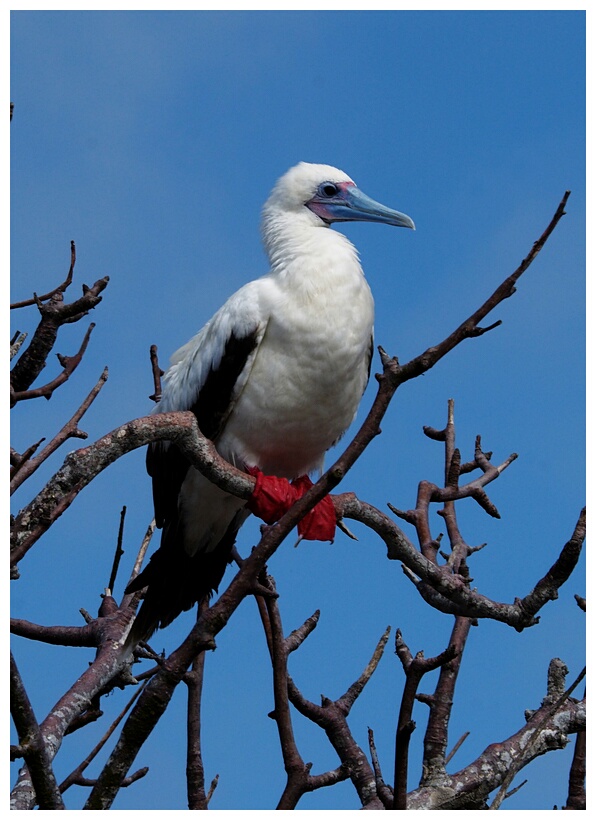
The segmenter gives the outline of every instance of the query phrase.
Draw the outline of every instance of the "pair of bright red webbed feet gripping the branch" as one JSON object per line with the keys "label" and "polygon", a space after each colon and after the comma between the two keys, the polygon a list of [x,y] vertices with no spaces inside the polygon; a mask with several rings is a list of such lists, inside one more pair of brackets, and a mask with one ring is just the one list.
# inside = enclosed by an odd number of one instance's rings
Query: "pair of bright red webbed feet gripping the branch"
{"label": "pair of bright red webbed feet gripping the branch", "polygon": [[[289,482],[287,478],[264,475],[258,467],[249,467],[248,472],[257,479],[257,483],[246,506],[266,524],[279,521],[313,484],[306,475]],[[300,521],[298,535],[307,541],[333,541],[336,523],[333,501],[326,495]]]}

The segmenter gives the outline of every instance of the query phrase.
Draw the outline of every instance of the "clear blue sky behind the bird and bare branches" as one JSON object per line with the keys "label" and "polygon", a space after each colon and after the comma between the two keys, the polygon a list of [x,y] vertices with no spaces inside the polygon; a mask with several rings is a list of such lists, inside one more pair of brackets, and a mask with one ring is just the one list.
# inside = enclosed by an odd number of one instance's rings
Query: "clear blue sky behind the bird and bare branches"
{"label": "clear blue sky behind the bird and bare branches", "polygon": [[[82,425],[89,439],[146,414],[149,346],[158,345],[165,364],[234,290],[266,272],[260,208],[277,177],[300,160],[342,168],[415,220],[415,233],[342,226],[376,298],[377,343],[401,361],[440,341],[484,301],[570,189],[567,216],[494,314],[503,325],[402,388],[383,435],[341,487],[381,509],[387,501],[413,506],[418,481],[442,474],[441,448],[422,425],[443,426],[454,398],[466,459],[478,433],[496,460],[520,454],[490,487],[500,521],[472,501],[460,504],[466,540],[488,542],[472,559],[475,584],[502,601],[526,594],[584,503],[584,24],[581,11],[13,12],[12,298],[61,281],[71,239],[73,292],[111,279],[89,317],[97,326],[75,377],[51,402],[17,407],[13,446],[51,437],[106,364],[109,381]],[[34,309],[11,318],[13,329],[35,327]],[[72,354],[86,326],[64,328],[56,350]],[[54,375],[57,365],[49,362],[46,372]],[[373,396],[374,380],[359,419]],[[15,509],[73,446],[24,485]],[[11,590],[16,616],[76,624],[80,607],[97,608],[126,504],[122,585],[152,516],[143,462],[138,452],[102,475],[29,553]],[[440,518],[435,527],[438,533]],[[269,565],[286,631],[322,610],[290,670],[314,700],[345,691],[387,625],[427,656],[446,646],[451,630],[375,536],[354,530],[358,542],[340,535],[332,546],[297,550],[288,542]],[[247,526],[240,551],[256,537]],[[540,704],[551,657],[567,663],[570,679],[581,670],[583,614],[573,599],[585,594],[581,572],[539,626],[521,635],[493,623],[473,630],[450,739],[471,735],[453,771],[516,731],[524,710]],[[159,634],[158,648],[174,648],[192,615],[180,621]],[[40,717],[90,659],[85,650],[23,641],[15,641],[15,655]],[[401,685],[388,649],[351,719],[363,745],[367,727],[375,730],[388,778]],[[205,686],[206,775],[220,774],[212,807],[273,808],[284,772],[267,718],[270,671],[254,602],[219,636]],[[183,694],[137,759],[151,767],[148,779],[123,791],[115,808],[185,808]],[[104,709],[116,714],[129,696],[114,694]],[[412,787],[426,717],[425,707],[417,709]],[[103,731],[92,725],[67,739],[59,778]],[[335,767],[318,729],[298,716],[296,732],[313,771]],[[536,761],[506,807],[560,806],[570,756],[568,748]],[[69,792],[69,807],[84,797]],[[301,807],[358,806],[348,783],[305,797]]]}

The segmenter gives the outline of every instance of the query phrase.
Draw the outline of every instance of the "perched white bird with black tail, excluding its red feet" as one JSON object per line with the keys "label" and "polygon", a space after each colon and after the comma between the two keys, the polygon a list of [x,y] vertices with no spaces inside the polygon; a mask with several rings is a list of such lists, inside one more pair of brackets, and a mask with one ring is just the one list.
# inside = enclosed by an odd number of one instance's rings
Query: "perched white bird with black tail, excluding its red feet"
{"label": "perched white bird with black tail, excluding its red feet", "polygon": [[[154,412],[191,410],[240,469],[287,479],[320,472],[370,376],[372,293],[358,251],[331,228],[351,221],[415,228],[333,166],[300,162],[280,177],[262,211],[269,272],[174,353]],[[162,535],[126,588],[145,590],[128,646],[217,591],[250,514],[171,442],[151,443],[146,462]]]}

